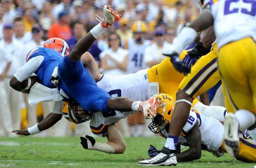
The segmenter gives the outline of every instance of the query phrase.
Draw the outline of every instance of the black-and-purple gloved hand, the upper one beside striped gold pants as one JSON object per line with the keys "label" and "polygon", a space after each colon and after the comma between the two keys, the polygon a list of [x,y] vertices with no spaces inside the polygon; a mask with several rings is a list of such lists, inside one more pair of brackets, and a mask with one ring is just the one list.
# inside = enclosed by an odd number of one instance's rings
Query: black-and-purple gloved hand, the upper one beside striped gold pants
{"label": "black-and-purple gloved hand, the upper one beside striped gold pants", "polygon": [[195,44],[195,46],[188,51],[185,58],[183,58],[182,62],[191,67],[191,65],[194,65],[196,61],[202,57],[204,51],[206,48],[204,48],[203,43],[198,42]]}

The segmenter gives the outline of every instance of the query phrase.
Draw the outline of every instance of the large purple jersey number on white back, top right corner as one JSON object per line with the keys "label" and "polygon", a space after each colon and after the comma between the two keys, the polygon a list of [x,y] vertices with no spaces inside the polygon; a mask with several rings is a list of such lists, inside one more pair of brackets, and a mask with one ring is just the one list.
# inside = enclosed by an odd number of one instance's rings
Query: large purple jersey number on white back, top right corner
{"label": "large purple jersey number on white back, top right corner", "polygon": [[[231,13],[238,13],[240,8],[231,8],[230,5],[234,2],[239,2],[240,0],[226,0],[225,7],[224,7],[224,15],[228,15]],[[247,3],[248,5],[251,4],[251,8],[241,8],[241,13],[255,16],[256,15],[256,0],[243,0],[244,3]]]}

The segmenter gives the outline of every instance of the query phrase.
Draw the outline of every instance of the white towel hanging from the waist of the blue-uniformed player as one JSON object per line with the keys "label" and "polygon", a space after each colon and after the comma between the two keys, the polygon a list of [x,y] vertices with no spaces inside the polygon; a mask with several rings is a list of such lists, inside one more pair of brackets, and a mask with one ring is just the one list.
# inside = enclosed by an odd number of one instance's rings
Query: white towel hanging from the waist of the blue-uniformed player
{"label": "white towel hanging from the waist of the blue-uniformed player", "polygon": [[50,89],[38,82],[31,87],[28,95],[28,103],[31,106],[36,105],[41,101],[52,102],[63,100],[58,88]]}

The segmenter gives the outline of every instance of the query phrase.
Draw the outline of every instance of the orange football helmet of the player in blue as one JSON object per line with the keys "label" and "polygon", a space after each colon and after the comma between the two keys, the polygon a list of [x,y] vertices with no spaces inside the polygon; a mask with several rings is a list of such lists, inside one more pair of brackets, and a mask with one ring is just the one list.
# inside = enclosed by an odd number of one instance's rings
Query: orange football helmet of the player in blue
{"label": "orange football helmet of the player in blue", "polygon": [[46,40],[43,44],[43,47],[52,48],[53,50],[61,53],[62,55],[65,55],[65,56],[68,56],[68,54],[70,52],[68,44],[65,42],[65,40],[62,40],[57,37],[53,37],[53,38]]}

